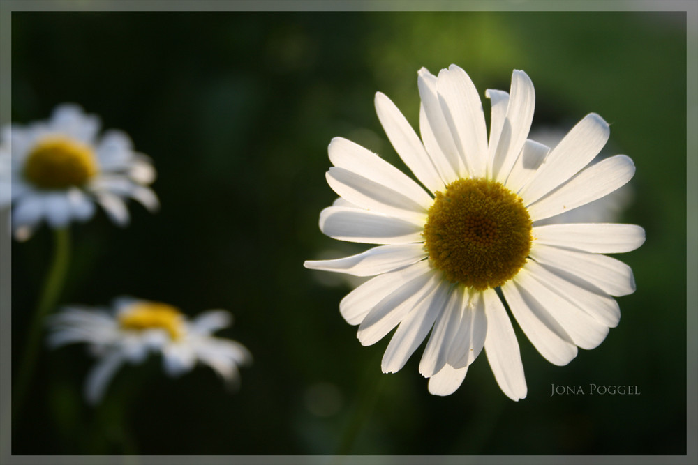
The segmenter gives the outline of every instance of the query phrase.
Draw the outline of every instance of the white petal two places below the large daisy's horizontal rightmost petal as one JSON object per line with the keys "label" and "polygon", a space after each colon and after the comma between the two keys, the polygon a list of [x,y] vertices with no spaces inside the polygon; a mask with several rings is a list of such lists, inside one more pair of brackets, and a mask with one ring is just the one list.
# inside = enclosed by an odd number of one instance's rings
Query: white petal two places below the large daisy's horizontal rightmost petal
{"label": "white petal two places below the large daisy's horizontal rightmost petal", "polygon": [[526,270],[600,323],[611,328],[618,326],[621,309],[616,300],[604,291],[575,275],[549,268],[533,260],[526,262]]}

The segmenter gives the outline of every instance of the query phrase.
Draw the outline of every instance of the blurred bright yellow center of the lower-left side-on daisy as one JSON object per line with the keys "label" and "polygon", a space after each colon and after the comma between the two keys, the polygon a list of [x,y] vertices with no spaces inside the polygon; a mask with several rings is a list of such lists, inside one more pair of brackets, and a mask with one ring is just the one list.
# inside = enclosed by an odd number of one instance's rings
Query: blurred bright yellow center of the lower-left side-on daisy
{"label": "blurred bright yellow center of the lower-left side-on daisy", "polygon": [[184,334],[184,315],[166,303],[140,302],[131,305],[119,314],[119,324],[124,330],[164,329],[172,340]]}

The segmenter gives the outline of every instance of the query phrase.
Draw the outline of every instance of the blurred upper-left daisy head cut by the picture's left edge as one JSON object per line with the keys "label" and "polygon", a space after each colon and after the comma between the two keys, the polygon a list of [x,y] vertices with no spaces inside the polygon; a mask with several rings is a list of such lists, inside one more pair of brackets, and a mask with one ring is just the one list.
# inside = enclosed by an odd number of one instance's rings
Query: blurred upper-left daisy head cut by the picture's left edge
{"label": "blurred upper-left daisy head cut by the picture's left edge", "polygon": [[47,121],[3,128],[0,208],[13,206],[15,238],[26,240],[42,220],[53,228],[87,221],[95,201],[120,226],[128,224],[128,197],[158,208],[147,187],[155,179],[150,159],[124,132],[98,137],[99,128],[98,116],[74,104],[59,105]]}

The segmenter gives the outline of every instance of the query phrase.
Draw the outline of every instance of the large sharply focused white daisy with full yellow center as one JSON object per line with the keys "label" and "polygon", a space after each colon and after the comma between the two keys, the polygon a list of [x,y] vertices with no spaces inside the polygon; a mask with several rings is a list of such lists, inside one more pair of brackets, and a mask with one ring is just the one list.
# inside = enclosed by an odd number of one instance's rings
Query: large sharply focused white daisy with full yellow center
{"label": "large sharply focused white daisy with full yellow center", "polygon": [[346,139],[329,144],[327,182],[341,196],[320,213],[335,239],[377,244],[306,268],[374,276],[341,300],[363,345],[397,327],[383,372],[401,369],[426,342],[419,372],[429,392],[449,395],[484,349],[501,390],[526,397],[526,379],[505,303],[540,354],[566,365],[593,349],[620,310],[613,296],[635,289],[630,267],[604,253],[644,242],[632,224],[537,223],[600,199],[627,183],[632,160],[616,155],[587,166],[609,137],[588,114],[550,149],[527,139],[535,93],[514,70],[510,92],[482,102],[458,66],[418,73],[419,139],[399,109],[376,93],[376,112],[401,159],[424,185]]}

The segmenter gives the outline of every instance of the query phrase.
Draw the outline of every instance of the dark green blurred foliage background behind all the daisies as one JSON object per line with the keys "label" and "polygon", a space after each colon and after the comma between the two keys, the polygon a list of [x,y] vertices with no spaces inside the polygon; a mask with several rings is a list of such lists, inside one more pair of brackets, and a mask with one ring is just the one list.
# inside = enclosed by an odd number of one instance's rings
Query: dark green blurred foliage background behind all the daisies
{"label": "dark green blurred foliage background behind all the daisies", "polygon": [[[129,366],[91,409],[81,397],[93,363],[84,348],[45,351],[13,454],[332,454],[355,423],[355,454],[685,454],[685,19],[13,13],[13,121],[77,102],[105,128],[128,132],[158,169],[160,213],[132,205],[126,229],[103,213],[73,226],[61,302],[130,294],[188,314],[225,308],[236,321],[220,334],[255,358],[232,393],[204,367],[173,380],[160,360]],[[484,354],[449,397],[427,392],[422,349],[401,372],[381,374],[388,338],[361,346],[338,311],[348,284],[302,266],[356,250],[318,230],[335,197],[324,177],[329,141],[347,137],[404,168],[373,94],[386,93],[416,127],[417,70],[450,63],[483,98],[488,87],[508,89],[512,69],[526,70],[534,128],[567,130],[597,112],[616,153],[637,165],[623,220],[641,224],[647,241],[619,257],[637,292],[618,299],[623,318],[607,340],[565,367],[547,363],[517,328],[528,381],[520,402],[500,392]],[[13,244],[15,360],[50,243],[43,228]],[[551,384],[589,383],[641,394],[550,397]],[[357,418],[371,392],[373,408]]]}

